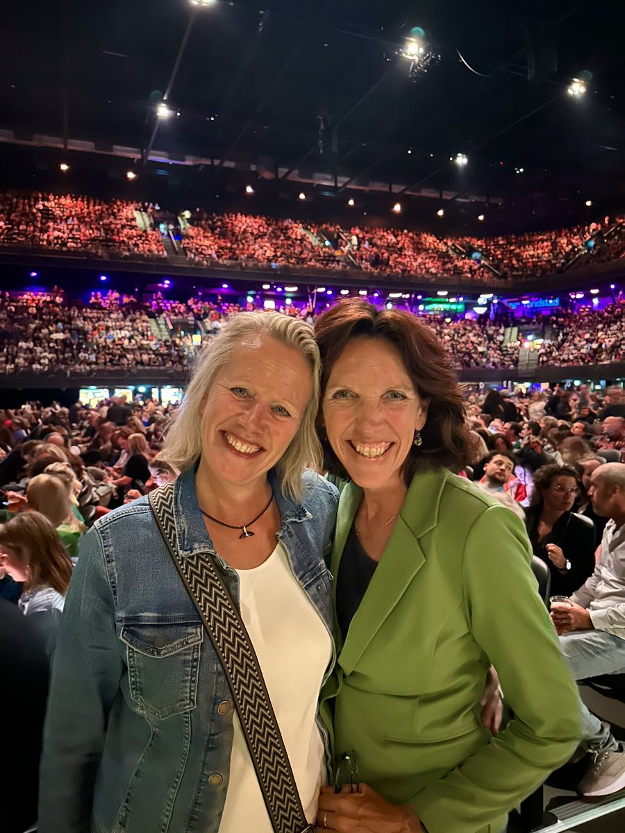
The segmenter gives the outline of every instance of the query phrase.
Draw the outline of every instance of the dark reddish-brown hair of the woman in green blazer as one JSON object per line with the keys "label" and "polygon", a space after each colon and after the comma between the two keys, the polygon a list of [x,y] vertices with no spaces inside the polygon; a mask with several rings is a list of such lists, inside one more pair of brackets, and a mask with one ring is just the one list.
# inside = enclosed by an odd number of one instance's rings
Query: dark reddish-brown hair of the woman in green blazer
{"label": "dark reddish-brown hair of the woman in green blazer", "polygon": [[[470,455],[461,387],[443,344],[418,317],[401,310],[378,310],[358,298],[339,301],[315,323],[315,336],[322,360],[323,397],[335,362],[354,338],[381,338],[393,344],[402,357],[413,386],[429,400],[428,419],[421,431],[423,443],[413,446],[403,465],[410,485],[418,471],[447,467],[460,471]],[[323,446],[323,465],[333,475],[348,477],[323,430],[322,409],[318,431]]]}

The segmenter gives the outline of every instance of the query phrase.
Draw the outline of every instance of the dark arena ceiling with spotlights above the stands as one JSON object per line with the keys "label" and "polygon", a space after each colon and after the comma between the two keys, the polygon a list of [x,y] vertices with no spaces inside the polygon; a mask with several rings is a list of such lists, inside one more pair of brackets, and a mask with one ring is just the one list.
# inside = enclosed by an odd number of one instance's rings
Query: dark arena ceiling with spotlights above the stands
{"label": "dark arena ceiling with spotlights above the stands", "polygon": [[[0,153],[67,142],[208,183],[238,170],[344,202],[393,192],[431,214],[448,201],[540,222],[625,204],[621,2],[207,2],[7,7]],[[414,27],[440,60],[410,77]]]}

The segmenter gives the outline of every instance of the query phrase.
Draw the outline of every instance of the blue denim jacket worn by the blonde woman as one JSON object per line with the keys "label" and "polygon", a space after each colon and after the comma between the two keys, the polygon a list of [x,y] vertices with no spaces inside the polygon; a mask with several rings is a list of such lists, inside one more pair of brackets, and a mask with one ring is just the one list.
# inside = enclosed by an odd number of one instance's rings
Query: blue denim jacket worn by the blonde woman
{"label": "blue denim jacket worn by the blonde woman", "polygon": [[[325,556],[338,491],[307,471],[300,504],[270,477],[282,516],[278,538],[332,636]],[[215,554],[193,470],[178,478],[174,503],[179,550],[213,554],[238,604],[238,576]],[[333,647],[324,681],[334,660]],[[223,667],[147,497],[97,521],[82,540],[57,637],[39,833],[216,833],[228,791],[233,708]]]}

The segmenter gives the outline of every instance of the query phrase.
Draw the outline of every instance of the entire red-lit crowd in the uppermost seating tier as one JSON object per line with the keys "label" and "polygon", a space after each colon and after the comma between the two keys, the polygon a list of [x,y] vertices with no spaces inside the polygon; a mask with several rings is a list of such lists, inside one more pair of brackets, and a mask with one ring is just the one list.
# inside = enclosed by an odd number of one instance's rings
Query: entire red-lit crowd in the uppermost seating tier
{"label": "entire red-lit crowd in the uppermost seating tier", "polygon": [[[138,202],[3,192],[0,247],[52,248],[95,257],[168,257],[162,235],[155,230],[162,215],[160,207]],[[543,277],[576,257],[580,267],[620,258],[625,254],[624,222],[625,217],[604,217],[557,231],[443,237],[400,228],[322,226],[198,209],[182,222],[181,251],[200,266],[357,268],[429,281],[446,276],[486,282],[495,275]],[[613,228],[616,232],[608,233]]]}

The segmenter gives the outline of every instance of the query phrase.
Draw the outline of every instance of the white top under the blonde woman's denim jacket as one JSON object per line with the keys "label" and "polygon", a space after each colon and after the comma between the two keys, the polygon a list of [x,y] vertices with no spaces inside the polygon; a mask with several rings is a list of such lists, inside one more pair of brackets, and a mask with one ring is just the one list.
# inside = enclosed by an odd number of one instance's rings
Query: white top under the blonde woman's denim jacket
{"label": "white top under the blonde woman's denim jacket", "polygon": [[[332,656],[328,630],[293,576],[283,545],[253,570],[238,570],[240,607],[306,818],[317,817],[319,788],[326,782],[323,740],[316,716],[319,689]],[[263,794],[238,716],[230,780],[219,833],[273,833]]]}

